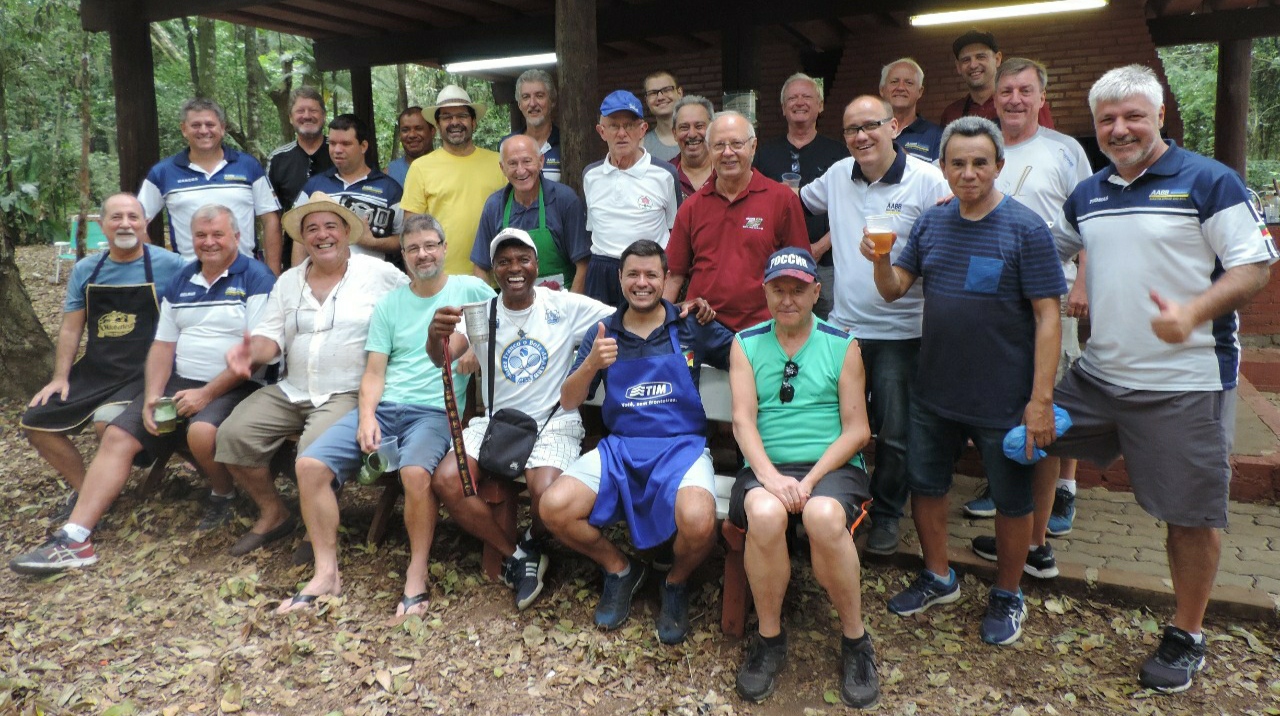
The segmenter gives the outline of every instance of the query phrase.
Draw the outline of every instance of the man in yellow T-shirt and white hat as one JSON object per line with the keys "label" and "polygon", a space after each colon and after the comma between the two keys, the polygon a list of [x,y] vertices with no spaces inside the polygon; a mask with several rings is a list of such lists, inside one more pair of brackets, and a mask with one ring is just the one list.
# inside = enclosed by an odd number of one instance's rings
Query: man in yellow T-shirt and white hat
{"label": "man in yellow T-shirt and white hat", "polygon": [[480,214],[489,195],[507,186],[498,152],[475,146],[471,136],[488,108],[471,101],[457,85],[447,85],[435,104],[422,108],[422,117],[440,133],[440,149],[421,156],[408,168],[401,207],[404,218],[430,214],[449,237],[444,273],[470,275],[471,246]]}

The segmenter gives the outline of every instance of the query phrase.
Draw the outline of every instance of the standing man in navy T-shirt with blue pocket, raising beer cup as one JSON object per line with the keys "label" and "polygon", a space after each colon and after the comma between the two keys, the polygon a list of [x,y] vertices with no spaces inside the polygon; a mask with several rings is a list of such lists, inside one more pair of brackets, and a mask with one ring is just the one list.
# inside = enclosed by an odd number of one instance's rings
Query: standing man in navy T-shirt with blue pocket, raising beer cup
{"label": "standing man in navy T-shirt with blue pocket, raising beer cup", "polygon": [[1053,441],[1057,301],[1066,292],[1044,220],[996,190],[1004,149],[992,122],[952,122],[942,132],[942,167],[955,201],[925,211],[897,259],[877,254],[869,237],[861,243],[886,301],[924,281],[908,462],[924,569],[888,608],[908,616],[960,598],[947,564],[947,492],[956,452],[972,439],[997,511],[996,584],[979,633],[1001,646],[1018,640],[1027,617],[1019,582],[1033,510],[1032,468],[1006,457],[1002,443],[1019,424],[1028,456]]}

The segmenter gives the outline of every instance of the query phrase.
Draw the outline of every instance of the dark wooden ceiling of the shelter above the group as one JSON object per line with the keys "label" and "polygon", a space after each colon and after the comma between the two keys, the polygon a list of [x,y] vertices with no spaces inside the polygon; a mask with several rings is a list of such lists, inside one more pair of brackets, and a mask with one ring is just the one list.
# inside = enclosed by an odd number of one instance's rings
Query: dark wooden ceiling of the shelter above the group
{"label": "dark wooden ceiling of the shelter above the group", "polygon": [[[782,26],[838,44],[850,27],[900,26],[909,14],[1000,4],[964,0],[599,0],[602,58],[705,49],[722,18]],[[1112,3],[1142,0],[1111,0]],[[1144,0],[1157,45],[1280,35],[1280,0]],[[394,63],[443,64],[554,49],[554,0],[82,0],[90,31],[113,23],[192,14],[310,37],[320,69]],[[850,18],[856,18],[851,23]]]}

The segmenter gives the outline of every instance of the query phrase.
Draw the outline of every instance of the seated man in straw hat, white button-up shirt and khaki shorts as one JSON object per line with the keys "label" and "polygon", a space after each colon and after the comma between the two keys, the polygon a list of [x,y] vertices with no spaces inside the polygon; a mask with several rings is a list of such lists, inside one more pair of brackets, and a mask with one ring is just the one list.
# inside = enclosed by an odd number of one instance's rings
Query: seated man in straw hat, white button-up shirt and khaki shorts
{"label": "seated man in straw hat, white button-up shirt and khaki shorts", "polygon": [[244,342],[227,352],[227,365],[241,375],[283,355],[279,383],[242,403],[218,433],[216,460],[259,507],[257,521],[232,546],[244,555],[287,537],[296,523],[271,479],[271,456],[289,435],[301,433],[298,452],[356,407],[365,371],[365,339],[374,304],[408,283],[392,264],[352,255],[348,238],[364,231],[353,211],[315,192],[284,215],[284,228],[307,257],[284,272],[262,319]]}

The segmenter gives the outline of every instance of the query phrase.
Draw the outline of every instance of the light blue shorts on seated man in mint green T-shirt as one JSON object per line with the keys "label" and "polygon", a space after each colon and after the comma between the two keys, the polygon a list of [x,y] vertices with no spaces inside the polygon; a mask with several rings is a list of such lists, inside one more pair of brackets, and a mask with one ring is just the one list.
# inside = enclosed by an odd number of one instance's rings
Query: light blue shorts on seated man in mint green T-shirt
{"label": "light blue shorts on seated man in mint green T-shirt", "polygon": [[[439,407],[380,402],[374,418],[378,419],[383,439],[392,435],[399,438],[401,468],[415,466],[433,473],[449,450],[449,420]],[[360,471],[364,461],[365,453],[356,441],[358,428],[360,410],[352,410],[298,457],[324,462],[334,475],[333,485],[337,489]]]}

